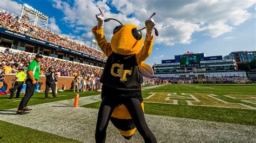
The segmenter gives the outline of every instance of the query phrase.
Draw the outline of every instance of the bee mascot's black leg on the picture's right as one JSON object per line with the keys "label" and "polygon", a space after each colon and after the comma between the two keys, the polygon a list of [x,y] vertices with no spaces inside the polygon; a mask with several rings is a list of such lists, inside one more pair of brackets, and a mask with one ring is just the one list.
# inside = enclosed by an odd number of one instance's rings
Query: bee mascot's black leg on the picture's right
{"label": "bee mascot's black leg on the picture's right", "polygon": [[137,127],[140,135],[142,135],[145,142],[157,142],[156,137],[150,131],[149,126],[147,126],[145,116],[142,110],[142,106],[140,105],[139,99],[131,98],[127,99],[124,103],[127,110],[130,112],[132,120]]}

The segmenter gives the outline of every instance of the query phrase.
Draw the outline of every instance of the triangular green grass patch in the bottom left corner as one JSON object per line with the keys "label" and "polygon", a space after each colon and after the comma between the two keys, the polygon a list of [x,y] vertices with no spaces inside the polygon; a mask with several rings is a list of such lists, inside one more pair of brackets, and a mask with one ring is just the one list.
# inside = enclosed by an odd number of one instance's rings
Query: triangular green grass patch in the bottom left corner
{"label": "triangular green grass patch in the bottom left corner", "polygon": [[78,142],[55,134],[0,121],[0,142]]}

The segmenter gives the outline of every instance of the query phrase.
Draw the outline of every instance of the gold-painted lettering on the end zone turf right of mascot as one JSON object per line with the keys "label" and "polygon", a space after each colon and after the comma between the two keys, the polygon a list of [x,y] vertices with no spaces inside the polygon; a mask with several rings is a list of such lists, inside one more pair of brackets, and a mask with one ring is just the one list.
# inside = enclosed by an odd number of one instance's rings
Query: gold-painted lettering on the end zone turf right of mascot
{"label": "gold-painted lettering on the end zone turf right of mascot", "polygon": [[[252,106],[242,103],[230,103],[217,98],[214,94],[188,94],[181,93],[178,95],[176,92],[151,92],[151,95],[144,99],[145,102],[153,103],[165,103],[165,104],[179,104],[180,102],[186,102],[187,105],[194,106],[213,106],[221,108],[241,108],[241,109],[256,109]],[[231,95],[230,95],[231,96]],[[232,97],[232,96],[231,96]],[[234,97],[234,95],[233,95]],[[235,96],[240,97],[240,96]],[[242,101],[245,101],[245,97]],[[247,96],[247,99],[255,98],[255,96]],[[246,101],[248,102],[248,101]],[[254,104],[255,101],[249,101]]]}

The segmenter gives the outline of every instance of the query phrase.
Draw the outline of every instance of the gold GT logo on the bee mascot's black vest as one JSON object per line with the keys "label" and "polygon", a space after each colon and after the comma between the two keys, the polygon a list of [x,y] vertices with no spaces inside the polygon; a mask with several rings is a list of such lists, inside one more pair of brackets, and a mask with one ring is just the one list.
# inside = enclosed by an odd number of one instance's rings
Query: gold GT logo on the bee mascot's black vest
{"label": "gold GT logo on the bee mascot's black vest", "polygon": [[[117,73],[114,73],[114,68],[117,67]],[[127,81],[126,75],[132,74],[132,70],[125,70],[124,68],[124,64],[118,64],[118,63],[114,63],[111,67],[111,75],[116,76],[116,77],[121,77],[120,81]]]}

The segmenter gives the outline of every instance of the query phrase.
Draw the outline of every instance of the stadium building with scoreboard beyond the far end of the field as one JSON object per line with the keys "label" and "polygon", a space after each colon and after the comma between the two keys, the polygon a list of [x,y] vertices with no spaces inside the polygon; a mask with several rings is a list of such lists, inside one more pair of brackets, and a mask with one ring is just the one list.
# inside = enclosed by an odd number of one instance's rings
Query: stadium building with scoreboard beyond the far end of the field
{"label": "stadium building with scoreboard beyond the far end of the field", "polygon": [[175,55],[175,59],[162,60],[153,66],[156,77],[224,77],[246,76],[245,71],[237,71],[233,59],[223,60],[223,56],[204,56],[204,53]]}

